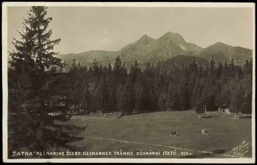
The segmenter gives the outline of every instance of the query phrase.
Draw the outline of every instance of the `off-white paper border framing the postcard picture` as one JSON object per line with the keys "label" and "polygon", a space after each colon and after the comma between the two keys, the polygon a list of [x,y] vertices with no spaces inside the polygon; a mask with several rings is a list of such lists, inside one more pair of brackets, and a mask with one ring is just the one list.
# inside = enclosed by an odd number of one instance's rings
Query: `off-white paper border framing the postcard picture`
{"label": "off-white paper border framing the postcard picture", "polygon": [[[163,159],[163,158],[80,158],[80,159],[8,159],[7,158],[7,7],[9,6],[62,6],[62,7],[221,7],[253,8],[253,86],[252,86],[252,158],[223,159]],[[2,77],[3,77],[3,160],[4,162],[172,162],[172,163],[255,163],[255,4],[254,3],[131,3],[131,2],[4,2],[2,3]]]}

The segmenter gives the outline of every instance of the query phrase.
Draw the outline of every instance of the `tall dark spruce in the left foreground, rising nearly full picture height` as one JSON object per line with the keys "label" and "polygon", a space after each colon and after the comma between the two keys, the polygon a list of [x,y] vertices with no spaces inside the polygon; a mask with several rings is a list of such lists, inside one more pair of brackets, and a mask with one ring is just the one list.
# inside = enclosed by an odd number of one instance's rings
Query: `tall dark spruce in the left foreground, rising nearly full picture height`
{"label": "tall dark spruce in the left foreground, rising nearly full picture height", "polygon": [[13,38],[15,51],[10,52],[8,61],[9,158],[12,151],[67,149],[68,142],[82,139],[76,133],[85,127],[55,122],[70,119],[67,111],[61,117],[48,115],[53,112],[52,98],[66,93],[65,86],[59,86],[66,81],[64,63],[52,51],[61,39],[50,40],[52,31],[47,28],[51,20],[47,7],[31,7],[24,18],[24,30],[19,32],[21,40]]}

